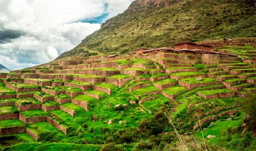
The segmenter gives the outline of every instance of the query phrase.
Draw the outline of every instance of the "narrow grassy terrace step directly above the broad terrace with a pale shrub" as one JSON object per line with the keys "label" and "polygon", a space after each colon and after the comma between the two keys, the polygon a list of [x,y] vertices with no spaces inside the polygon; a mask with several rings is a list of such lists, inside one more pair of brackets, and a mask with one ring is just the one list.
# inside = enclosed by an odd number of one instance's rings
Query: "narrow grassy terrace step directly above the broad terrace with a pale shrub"
{"label": "narrow grassy terrace step directly above the broad terrace with a pale shrub", "polygon": [[190,77],[206,77],[207,74],[204,72],[177,72],[170,74],[171,79],[179,80]]}

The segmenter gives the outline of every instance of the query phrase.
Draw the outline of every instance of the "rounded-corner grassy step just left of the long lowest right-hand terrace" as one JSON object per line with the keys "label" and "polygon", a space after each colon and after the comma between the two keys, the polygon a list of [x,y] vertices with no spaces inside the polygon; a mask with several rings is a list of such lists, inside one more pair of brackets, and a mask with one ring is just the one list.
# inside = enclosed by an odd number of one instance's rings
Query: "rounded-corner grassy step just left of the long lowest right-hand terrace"
{"label": "rounded-corner grassy step just left of the long lowest right-hand terrace", "polygon": [[187,91],[187,88],[185,87],[181,87],[181,86],[173,86],[170,88],[165,89],[164,91],[162,91],[162,94],[170,99],[174,99],[174,97],[176,97],[177,95],[184,93],[185,91]]}

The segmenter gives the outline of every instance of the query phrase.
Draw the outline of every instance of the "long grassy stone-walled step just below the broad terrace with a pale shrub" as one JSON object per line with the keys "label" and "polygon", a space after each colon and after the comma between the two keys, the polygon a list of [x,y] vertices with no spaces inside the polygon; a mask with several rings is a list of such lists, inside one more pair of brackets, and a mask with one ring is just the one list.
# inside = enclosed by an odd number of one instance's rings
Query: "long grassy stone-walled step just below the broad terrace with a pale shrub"
{"label": "long grassy stone-walled step just below the broad terrace with a pale shrub", "polygon": [[226,88],[215,90],[198,91],[197,94],[205,100],[213,98],[229,98],[235,95],[235,92]]}

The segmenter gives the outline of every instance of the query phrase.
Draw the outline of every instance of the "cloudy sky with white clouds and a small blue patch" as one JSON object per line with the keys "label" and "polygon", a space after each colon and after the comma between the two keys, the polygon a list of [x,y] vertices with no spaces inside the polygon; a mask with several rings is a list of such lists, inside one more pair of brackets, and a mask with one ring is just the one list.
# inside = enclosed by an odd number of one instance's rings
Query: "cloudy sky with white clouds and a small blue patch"
{"label": "cloudy sky with white clouds and a small blue patch", "polygon": [[54,60],[133,0],[0,0],[0,64],[22,69]]}

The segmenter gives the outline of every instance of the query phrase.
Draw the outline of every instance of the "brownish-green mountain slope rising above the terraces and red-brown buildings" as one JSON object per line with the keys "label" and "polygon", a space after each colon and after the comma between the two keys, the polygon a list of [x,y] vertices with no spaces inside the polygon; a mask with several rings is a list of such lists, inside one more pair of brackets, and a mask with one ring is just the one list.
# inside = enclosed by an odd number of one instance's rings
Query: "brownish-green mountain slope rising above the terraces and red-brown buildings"
{"label": "brownish-green mountain slope rising above the terraces and red-brown buildings", "polygon": [[[127,53],[181,41],[256,37],[255,0],[135,0],[63,57]],[[84,47],[80,47],[80,46]]]}

